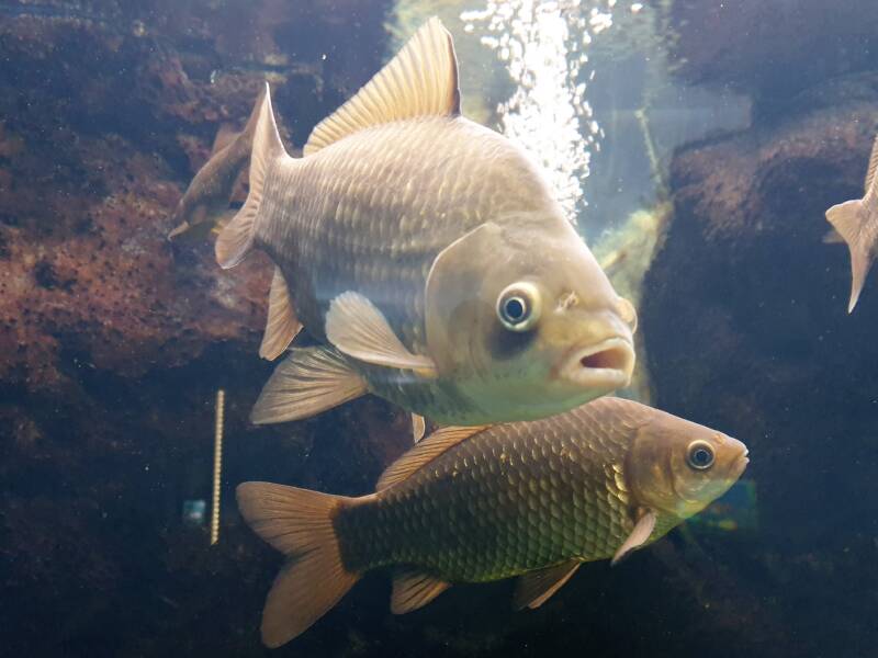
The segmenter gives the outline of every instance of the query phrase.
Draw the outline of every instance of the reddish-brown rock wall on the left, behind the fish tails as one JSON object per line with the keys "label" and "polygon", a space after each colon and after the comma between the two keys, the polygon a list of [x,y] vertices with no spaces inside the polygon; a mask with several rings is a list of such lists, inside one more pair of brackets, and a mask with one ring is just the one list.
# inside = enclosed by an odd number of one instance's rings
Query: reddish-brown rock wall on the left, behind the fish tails
{"label": "reddish-brown rock wall on the left, behind the fish tails", "polygon": [[[254,429],[269,263],[233,275],[209,241],[166,239],[218,125],[246,118],[261,80],[301,143],[380,66],[375,3],[335,4],[0,1],[4,653],[262,655],[241,611],[261,608],[274,556],[236,525],[234,485],[331,476],[362,492],[410,442],[407,417],[374,399]],[[210,499],[218,387],[210,548],[181,507]]]}

